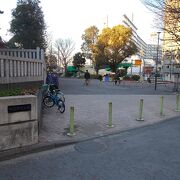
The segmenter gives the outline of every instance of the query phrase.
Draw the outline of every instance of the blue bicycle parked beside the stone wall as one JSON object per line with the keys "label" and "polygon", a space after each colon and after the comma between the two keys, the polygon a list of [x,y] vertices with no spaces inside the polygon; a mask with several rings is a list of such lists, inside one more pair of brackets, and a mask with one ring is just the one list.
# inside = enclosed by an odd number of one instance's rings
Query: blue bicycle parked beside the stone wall
{"label": "blue bicycle parked beside the stone wall", "polygon": [[49,108],[56,105],[61,113],[64,113],[65,111],[64,101],[62,101],[61,98],[56,93],[48,92],[48,94],[43,98],[43,103],[46,107]]}

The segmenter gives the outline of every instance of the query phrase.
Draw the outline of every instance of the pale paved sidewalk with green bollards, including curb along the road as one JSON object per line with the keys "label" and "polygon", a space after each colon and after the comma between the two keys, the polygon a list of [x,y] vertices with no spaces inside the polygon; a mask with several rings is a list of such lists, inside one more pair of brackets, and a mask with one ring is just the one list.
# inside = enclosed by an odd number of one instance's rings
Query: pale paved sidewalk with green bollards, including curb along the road
{"label": "pale paved sidewalk with green bollards, including curb along the road", "polygon": [[[144,121],[137,121],[139,101],[144,99]],[[108,103],[112,102],[113,128],[108,124]],[[66,95],[66,111],[61,114],[57,107],[45,108],[39,143],[0,153],[0,161],[23,154],[39,152],[69,143],[119,133],[128,129],[143,127],[180,115],[175,112],[176,95],[164,96],[164,114],[160,116],[160,95]],[[75,133],[69,132],[69,109],[75,109]]]}

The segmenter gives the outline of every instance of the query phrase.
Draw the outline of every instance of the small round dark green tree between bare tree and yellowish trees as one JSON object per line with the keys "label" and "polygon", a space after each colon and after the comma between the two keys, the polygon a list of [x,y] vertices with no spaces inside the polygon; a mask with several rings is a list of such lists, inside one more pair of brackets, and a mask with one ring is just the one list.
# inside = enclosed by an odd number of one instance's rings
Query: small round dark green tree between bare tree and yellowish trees
{"label": "small round dark green tree between bare tree and yellowish trees", "polygon": [[76,68],[83,67],[85,65],[86,59],[84,57],[84,54],[81,52],[78,52],[73,57],[73,65]]}

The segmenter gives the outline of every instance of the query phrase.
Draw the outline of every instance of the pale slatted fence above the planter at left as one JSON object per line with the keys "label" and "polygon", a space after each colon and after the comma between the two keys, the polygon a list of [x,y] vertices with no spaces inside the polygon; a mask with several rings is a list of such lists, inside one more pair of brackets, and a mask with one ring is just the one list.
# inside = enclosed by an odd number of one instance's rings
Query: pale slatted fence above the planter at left
{"label": "pale slatted fence above the planter at left", "polygon": [[0,49],[0,84],[45,81],[44,51]]}

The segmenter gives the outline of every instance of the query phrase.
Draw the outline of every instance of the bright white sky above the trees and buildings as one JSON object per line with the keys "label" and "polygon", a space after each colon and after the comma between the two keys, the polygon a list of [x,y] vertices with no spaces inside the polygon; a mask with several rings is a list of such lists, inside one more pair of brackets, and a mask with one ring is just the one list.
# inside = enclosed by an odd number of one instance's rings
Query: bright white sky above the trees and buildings
{"label": "bright white sky above the trees and buildings", "polygon": [[[16,8],[17,0],[0,0],[0,36],[8,40],[11,21],[11,10]],[[76,43],[76,49],[82,44],[81,36],[84,30],[92,25],[100,30],[108,26],[122,24],[123,14],[138,28],[138,35],[151,43],[150,34],[153,29],[153,14],[140,0],[41,0],[40,6],[44,13],[47,32],[53,42],[59,38],[71,38]]]}

